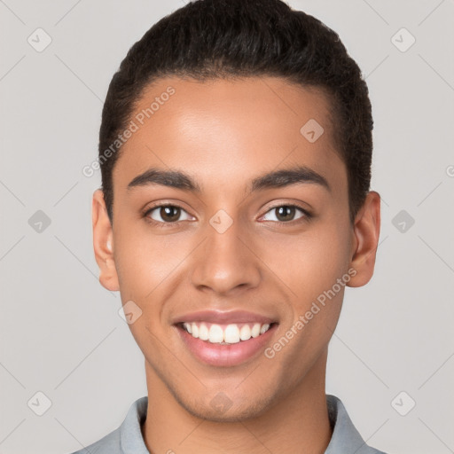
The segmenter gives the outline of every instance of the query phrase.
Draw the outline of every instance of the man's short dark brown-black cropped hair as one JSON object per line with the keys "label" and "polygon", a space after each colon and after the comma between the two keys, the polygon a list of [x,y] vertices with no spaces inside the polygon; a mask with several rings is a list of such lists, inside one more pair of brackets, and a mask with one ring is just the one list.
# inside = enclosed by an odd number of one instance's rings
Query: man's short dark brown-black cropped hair
{"label": "man's short dark brown-black cropped hair", "polygon": [[[203,82],[267,75],[327,93],[354,223],[371,182],[369,91],[339,35],[281,0],[197,0],[158,21],[129,49],[107,90],[99,131],[98,161],[110,222],[112,174],[121,150],[116,139],[149,84],[166,76]],[[106,159],[109,148],[116,153]]]}

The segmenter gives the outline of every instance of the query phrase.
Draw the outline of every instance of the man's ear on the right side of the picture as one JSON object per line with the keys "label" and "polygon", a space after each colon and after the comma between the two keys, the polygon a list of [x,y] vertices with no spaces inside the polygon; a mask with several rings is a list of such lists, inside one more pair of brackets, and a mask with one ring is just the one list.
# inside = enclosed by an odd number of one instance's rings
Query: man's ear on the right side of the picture
{"label": "man's ear on the right side of the picture", "polygon": [[363,207],[359,210],[353,228],[350,267],[356,274],[348,281],[350,287],[365,286],[372,278],[375,256],[380,237],[380,194],[367,193]]}

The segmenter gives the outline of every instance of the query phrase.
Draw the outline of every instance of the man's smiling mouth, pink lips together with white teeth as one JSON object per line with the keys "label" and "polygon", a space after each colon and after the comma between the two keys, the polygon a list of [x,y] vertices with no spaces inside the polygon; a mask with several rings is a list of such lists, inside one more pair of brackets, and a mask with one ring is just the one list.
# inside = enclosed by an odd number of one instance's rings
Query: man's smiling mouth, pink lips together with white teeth
{"label": "man's smiling mouth, pink lips together with white teeth", "polygon": [[278,322],[247,313],[206,312],[180,318],[174,326],[184,347],[196,360],[231,367],[260,356],[270,343]]}

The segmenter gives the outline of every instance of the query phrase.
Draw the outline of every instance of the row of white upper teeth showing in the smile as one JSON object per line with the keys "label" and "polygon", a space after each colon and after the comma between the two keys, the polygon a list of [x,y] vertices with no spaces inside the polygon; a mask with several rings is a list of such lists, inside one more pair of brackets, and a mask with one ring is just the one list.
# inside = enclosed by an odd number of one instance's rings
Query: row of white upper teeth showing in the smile
{"label": "row of white upper teeth showing in the smile", "polygon": [[[242,325],[242,324],[241,324]],[[184,323],[184,329],[192,334],[192,337],[200,340],[207,340],[211,343],[237,344],[241,340],[249,340],[266,333],[270,329],[270,324],[261,325],[254,323],[242,325],[231,324],[224,327],[216,324],[205,323]]]}

